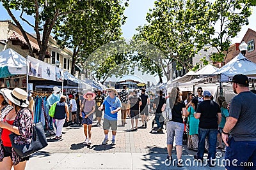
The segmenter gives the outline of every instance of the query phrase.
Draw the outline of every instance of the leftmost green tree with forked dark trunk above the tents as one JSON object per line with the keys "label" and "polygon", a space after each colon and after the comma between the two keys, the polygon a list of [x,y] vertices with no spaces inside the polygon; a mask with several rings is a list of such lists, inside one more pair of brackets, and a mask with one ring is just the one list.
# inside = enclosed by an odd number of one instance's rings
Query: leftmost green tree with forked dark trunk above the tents
{"label": "leftmost green tree with forked dark trunk above the tents", "polygon": [[[79,0],[67,0],[67,1],[28,1],[28,0],[1,0],[4,8],[7,10],[8,14],[12,18],[13,22],[19,27],[22,32],[22,36],[26,39],[26,43],[29,48],[29,55],[31,57],[35,57],[33,53],[33,48],[29,43],[28,36],[24,31],[24,28],[20,24],[17,17],[15,17],[12,13],[12,10],[20,11],[19,18],[26,22],[28,25],[33,27],[36,33],[36,39],[39,50],[39,59],[44,60],[45,53],[47,51],[47,45],[49,36],[51,34],[52,28],[54,24],[56,24],[56,20],[60,16],[65,16],[68,13],[74,13],[76,11],[84,11],[89,10],[84,6],[86,3],[84,1]],[[34,23],[28,21],[28,18],[24,18],[23,14],[31,15],[35,20]]]}

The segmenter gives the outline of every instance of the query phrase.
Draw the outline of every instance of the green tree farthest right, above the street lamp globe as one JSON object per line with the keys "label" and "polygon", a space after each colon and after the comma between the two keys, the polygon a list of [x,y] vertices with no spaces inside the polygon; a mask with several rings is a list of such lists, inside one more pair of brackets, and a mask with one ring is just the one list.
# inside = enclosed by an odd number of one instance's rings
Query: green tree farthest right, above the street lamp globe
{"label": "green tree farthest right, above the street lamp globe", "polygon": [[243,25],[248,25],[248,17],[252,15],[250,0],[216,0],[211,6],[212,25],[214,35],[211,38],[211,46],[218,52],[212,53],[211,60],[224,62],[231,39],[237,36]]}

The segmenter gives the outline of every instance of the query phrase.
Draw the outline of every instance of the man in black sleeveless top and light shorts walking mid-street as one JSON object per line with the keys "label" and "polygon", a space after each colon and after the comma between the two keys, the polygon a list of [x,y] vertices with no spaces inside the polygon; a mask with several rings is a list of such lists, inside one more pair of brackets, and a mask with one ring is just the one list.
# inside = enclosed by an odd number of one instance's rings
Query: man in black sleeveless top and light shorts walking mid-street
{"label": "man in black sleeveless top and light shorts walking mid-street", "polygon": [[141,115],[141,122],[142,127],[147,127],[147,120],[148,120],[148,104],[150,104],[150,100],[148,94],[146,94],[146,89],[141,90],[141,106],[140,106],[140,115]]}

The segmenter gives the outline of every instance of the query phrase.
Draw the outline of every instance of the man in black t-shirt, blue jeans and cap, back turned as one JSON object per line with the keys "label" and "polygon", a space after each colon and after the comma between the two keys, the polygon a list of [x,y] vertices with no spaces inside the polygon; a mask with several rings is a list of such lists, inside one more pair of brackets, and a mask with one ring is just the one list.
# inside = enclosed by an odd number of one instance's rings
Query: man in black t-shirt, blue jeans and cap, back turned
{"label": "man in black t-shirt, blue jeans and cap, back turned", "polygon": [[207,159],[209,166],[213,166],[213,159],[216,158],[216,143],[218,124],[221,122],[221,110],[218,103],[211,101],[211,92],[204,91],[204,101],[198,104],[195,118],[199,118],[198,128],[198,152],[195,159],[203,160],[205,138],[209,140],[209,153]]}

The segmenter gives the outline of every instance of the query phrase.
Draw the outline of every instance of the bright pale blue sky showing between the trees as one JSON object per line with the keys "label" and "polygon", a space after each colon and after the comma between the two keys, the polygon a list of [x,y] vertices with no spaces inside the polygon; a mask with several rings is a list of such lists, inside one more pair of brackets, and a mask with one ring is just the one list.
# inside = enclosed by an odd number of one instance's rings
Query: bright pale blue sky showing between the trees
{"label": "bright pale blue sky showing between the trees", "polygon": [[[131,39],[133,34],[136,34],[135,29],[139,25],[146,24],[145,18],[149,8],[154,8],[154,0],[129,0],[129,6],[128,8],[125,9],[125,16],[127,16],[127,20],[125,25],[122,25],[123,36],[125,39]],[[20,15],[19,11],[18,12],[13,11],[13,13],[15,16]],[[0,20],[10,19],[7,11],[3,8],[1,3],[0,3],[0,14],[1,14]],[[27,17],[28,16],[25,16],[25,18]],[[239,32],[236,38],[232,39],[232,43],[239,43],[243,38],[244,34],[246,33],[246,31],[248,30],[248,28],[256,31],[255,18],[256,18],[256,7],[253,7],[253,14],[249,18],[250,24],[242,27],[242,31]],[[33,20],[33,18],[29,17],[29,20]],[[21,24],[24,26],[25,31],[34,32],[33,28],[30,27],[25,22],[21,22]],[[147,82],[147,80],[150,80],[154,83],[159,81],[158,77],[154,78],[154,76],[150,76],[150,75],[145,76],[139,73],[138,71],[136,71],[136,75],[143,78],[145,82]],[[115,78],[113,78],[113,80],[115,80]]]}

